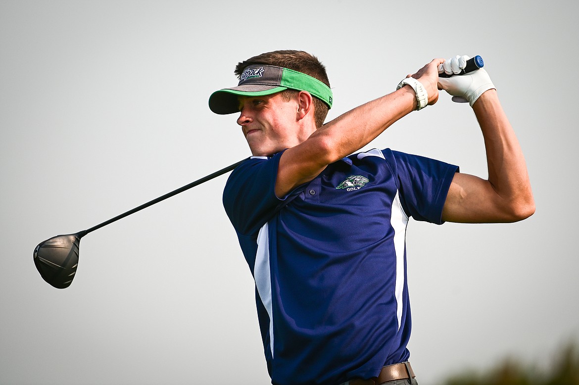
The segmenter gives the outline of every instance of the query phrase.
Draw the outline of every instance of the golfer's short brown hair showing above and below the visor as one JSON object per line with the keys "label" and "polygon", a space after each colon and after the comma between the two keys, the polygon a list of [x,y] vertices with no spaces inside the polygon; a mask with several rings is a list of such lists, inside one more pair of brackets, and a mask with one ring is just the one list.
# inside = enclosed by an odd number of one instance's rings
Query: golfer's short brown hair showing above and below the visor
{"label": "golfer's short brown hair showing above and below the visor", "polygon": [[[240,78],[243,74],[243,70],[253,64],[262,65],[276,65],[277,67],[290,68],[294,71],[302,72],[303,74],[310,75],[313,78],[320,80],[328,87],[329,80],[328,74],[326,73],[325,65],[321,63],[316,56],[309,54],[305,51],[297,50],[277,50],[272,52],[266,52],[259,54],[257,56],[248,58],[247,60],[240,61],[235,67],[235,75]],[[285,90],[284,94],[285,100],[290,100],[297,92],[296,90]],[[313,97],[314,100],[314,120],[316,121],[316,127],[320,128],[324,125],[326,116],[328,116],[329,107],[325,102]]]}

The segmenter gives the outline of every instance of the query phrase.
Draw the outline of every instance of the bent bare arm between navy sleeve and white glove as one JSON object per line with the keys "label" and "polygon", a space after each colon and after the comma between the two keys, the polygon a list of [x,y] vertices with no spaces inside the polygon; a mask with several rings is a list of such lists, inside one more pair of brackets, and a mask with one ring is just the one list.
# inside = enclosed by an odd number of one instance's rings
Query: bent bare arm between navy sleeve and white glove
{"label": "bent bare arm between navy sleeve and white glove", "polygon": [[456,173],[442,210],[450,222],[516,222],[535,211],[525,158],[494,89],[472,104],[485,141],[489,177]]}

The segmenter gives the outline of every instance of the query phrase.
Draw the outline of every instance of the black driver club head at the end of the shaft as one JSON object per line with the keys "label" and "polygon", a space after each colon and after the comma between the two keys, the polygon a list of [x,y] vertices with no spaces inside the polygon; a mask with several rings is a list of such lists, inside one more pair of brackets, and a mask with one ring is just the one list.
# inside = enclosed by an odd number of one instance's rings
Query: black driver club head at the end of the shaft
{"label": "black driver club head at the end of the shaft", "polygon": [[57,235],[34,249],[34,265],[42,278],[58,289],[70,286],[78,266],[79,233]]}

